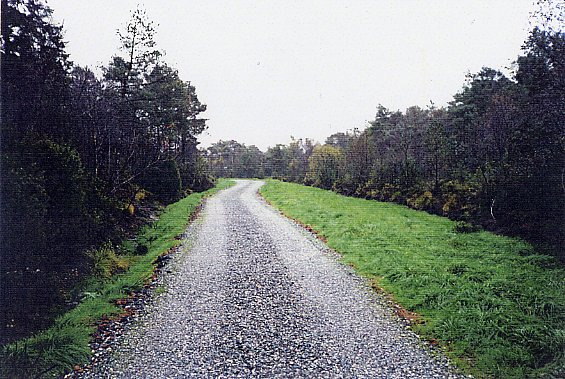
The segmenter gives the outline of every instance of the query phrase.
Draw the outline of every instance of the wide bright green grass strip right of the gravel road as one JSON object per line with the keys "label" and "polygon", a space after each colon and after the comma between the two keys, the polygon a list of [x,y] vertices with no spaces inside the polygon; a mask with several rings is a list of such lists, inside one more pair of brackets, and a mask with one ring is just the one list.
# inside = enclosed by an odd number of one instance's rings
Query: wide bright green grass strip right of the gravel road
{"label": "wide bright green grass strip right of the gravel road", "polygon": [[419,314],[478,377],[565,374],[565,270],[527,243],[407,207],[269,180],[261,194],[311,226],[345,263]]}

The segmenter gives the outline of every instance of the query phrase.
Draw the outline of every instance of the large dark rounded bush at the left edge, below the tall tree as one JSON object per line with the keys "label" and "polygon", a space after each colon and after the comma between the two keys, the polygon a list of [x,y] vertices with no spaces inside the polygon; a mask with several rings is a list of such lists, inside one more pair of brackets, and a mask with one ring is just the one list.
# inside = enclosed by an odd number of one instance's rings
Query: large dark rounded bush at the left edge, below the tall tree
{"label": "large dark rounded bush at the left edge, below the tall tree", "polygon": [[[43,328],[86,271],[81,251],[98,235],[88,178],[69,146],[25,140],[2,156],[2,340]],[[13,322],[10,320],[14,320]],[[7,328],[7,325],[10,325]]]}

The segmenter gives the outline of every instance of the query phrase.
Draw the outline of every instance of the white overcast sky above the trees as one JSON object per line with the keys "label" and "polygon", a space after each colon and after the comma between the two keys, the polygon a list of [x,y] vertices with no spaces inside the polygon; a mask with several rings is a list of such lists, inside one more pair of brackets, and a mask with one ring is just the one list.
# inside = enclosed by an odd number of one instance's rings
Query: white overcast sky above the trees
{"label": "white overcast sky above the trees", "polygon": [[116,54],[116,29],[140,4],[159,24],[165,61],[208,105],[202,145],[263,150],[362,129],[379,103],[446,105],[467,72],[511,65],[532,3],[48,0],[71,60],[91,68]]}

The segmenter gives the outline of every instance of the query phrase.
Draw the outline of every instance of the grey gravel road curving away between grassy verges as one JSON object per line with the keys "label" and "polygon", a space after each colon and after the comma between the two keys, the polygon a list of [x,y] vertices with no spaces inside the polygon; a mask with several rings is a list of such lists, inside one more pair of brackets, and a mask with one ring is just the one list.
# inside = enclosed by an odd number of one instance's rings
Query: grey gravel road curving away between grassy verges
{"label": "grey gravel road curving away between grassy verges", "polygon": [[258,195],[210,198],[165,291],[86,377],[457,377],[324,245]]}

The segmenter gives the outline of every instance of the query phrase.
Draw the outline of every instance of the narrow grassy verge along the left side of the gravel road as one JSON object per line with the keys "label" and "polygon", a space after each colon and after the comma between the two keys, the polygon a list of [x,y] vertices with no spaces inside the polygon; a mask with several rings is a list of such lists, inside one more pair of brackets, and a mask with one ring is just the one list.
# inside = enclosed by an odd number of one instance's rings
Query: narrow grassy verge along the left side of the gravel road
{"label": "narrow grassy verge along the left side of the gravel road", "polygon": [[116,300],[143,287],[153,274],[153,261],[179,243],[175,237],[185,230],[202,199],[232,184],[232,181],[220,179],[216,187],[167,206],[159,220],[140,232],[138,240],[144,241],[148,251],[143,256],[125,257],[131,261],[125,273],[105,281],[90,281],[80,304],[55,320],[52,327],[2,348],[0,377],[51,377],[73,365],[86,363],[91,355],[89,342],[96,329],[94,323],[104,316],[120,313]]}

